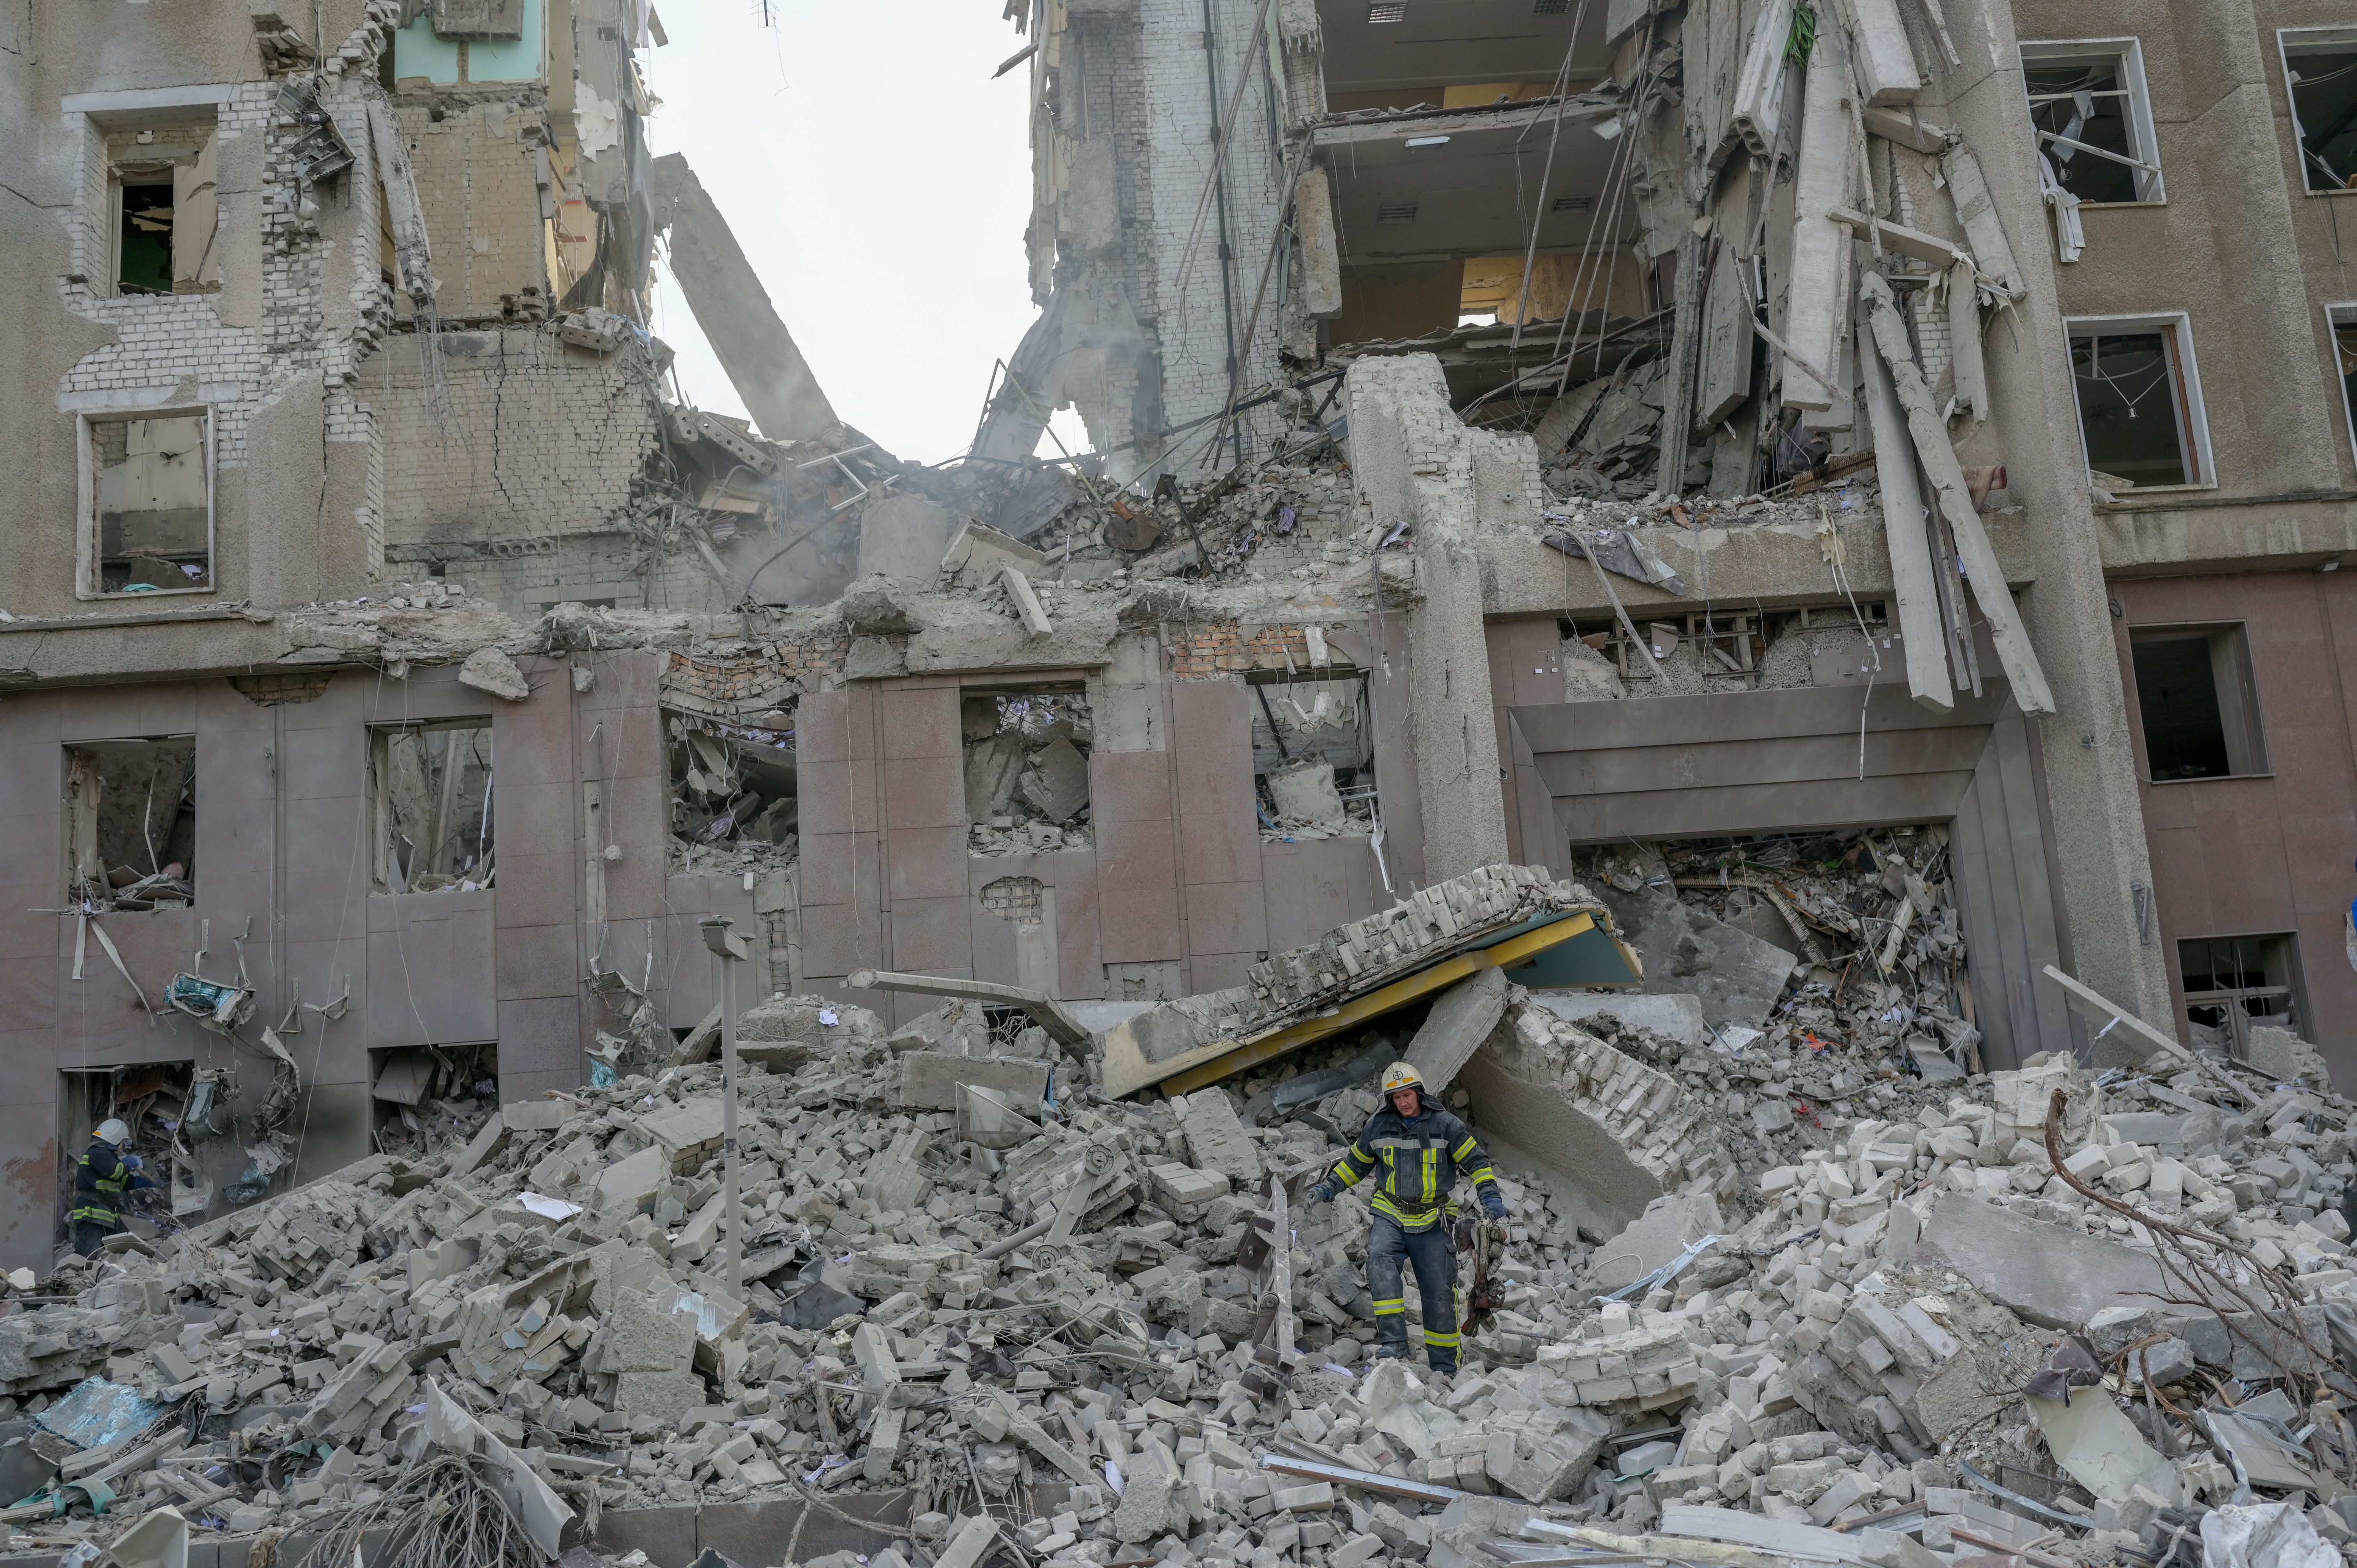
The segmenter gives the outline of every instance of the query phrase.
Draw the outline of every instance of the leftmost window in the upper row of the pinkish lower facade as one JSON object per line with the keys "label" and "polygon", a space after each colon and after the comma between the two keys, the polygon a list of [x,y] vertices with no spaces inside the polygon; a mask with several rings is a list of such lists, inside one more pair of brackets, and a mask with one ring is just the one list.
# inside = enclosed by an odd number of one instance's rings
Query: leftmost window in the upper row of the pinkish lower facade
{"label": "leftmost window in the upper row of the pinkish lower facade", "polygon": [[196,738],[66,747],[66,901],[108,910],[196,898]]}

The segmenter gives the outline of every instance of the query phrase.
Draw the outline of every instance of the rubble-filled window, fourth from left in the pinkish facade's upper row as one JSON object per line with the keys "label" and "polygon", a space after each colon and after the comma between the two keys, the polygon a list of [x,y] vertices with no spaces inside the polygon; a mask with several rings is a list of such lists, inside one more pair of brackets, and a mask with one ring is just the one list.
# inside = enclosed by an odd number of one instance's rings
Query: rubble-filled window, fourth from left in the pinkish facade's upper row
{"label": "rubble-filled window, fourth from left in the pinkish facade's upper row", "polygon": [[978,856],[1089,846],[1089,747],[1077,689],[964,698],[969,849]]}

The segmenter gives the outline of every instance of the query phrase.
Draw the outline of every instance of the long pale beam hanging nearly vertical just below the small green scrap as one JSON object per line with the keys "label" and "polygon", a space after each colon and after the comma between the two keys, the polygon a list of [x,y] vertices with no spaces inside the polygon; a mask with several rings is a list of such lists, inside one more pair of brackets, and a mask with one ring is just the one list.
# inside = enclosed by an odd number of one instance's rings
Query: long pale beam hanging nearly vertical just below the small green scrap
{"label": "long pale beam hanging nearly vertical just below the small green scrap", "polygon": [[1827,380],[1841,373],[1841,337],[1850,318],[1850,236],[1834,222],[1834,207],[1850,193],[1850,92],[1841,28],[1827,28],[1808,57],[1801,170],[1791,198],[1791,295],[1784,307],[1784,342],[1791,344],[1784,401],[1813,413],[1829,413],[1850,394]]}

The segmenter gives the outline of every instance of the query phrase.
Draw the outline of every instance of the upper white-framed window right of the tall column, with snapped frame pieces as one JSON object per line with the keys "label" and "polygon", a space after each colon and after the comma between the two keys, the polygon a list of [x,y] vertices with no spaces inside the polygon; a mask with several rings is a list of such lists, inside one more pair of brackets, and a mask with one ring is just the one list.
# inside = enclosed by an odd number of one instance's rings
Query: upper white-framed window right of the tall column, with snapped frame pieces
{"label": "upper white-framed window right of the tall column, with snapped frame pieces", "polygon": [[2025,42],[2039,156],[2081,203],[2166,200],[2145,50],[2133,38]]}

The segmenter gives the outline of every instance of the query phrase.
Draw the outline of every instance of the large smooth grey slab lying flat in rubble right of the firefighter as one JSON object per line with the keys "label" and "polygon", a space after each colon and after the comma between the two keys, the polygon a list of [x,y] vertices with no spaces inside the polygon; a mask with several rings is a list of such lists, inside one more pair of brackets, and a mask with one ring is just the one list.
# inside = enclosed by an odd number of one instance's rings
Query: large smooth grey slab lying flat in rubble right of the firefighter
{"label": "large smooth grey slab lying flat in rubble right of the firefighter", "polygon": [[2077,1330],[2105,1306],[2152,1306],[2168,1294],[2150,1252],[1963,1193],[1940,1195],[1914,1257],[1947,1264],[2039,1327]]}

